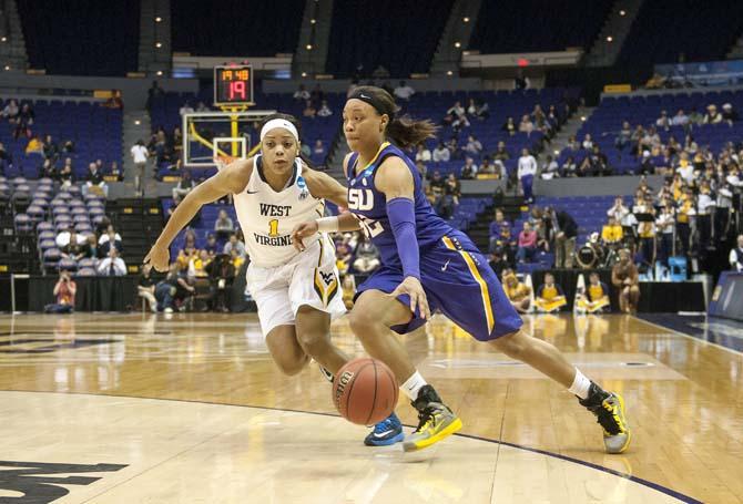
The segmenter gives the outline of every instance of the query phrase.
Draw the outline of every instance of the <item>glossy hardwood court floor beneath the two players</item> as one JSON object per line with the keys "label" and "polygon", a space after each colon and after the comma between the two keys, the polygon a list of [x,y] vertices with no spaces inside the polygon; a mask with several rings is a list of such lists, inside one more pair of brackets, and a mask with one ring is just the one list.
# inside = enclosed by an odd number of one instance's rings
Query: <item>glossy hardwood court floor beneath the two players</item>
{"label": "glossy hardwood court floor beneath the two players", "polygon": [[404,454],[362,444],[316,364],[283,377],[255,316],[2,316],[0,502],[743,502],[743,354],[624,316],[526,327],[623,394],[625,454],[442,317],[405,342],[464,435]]}

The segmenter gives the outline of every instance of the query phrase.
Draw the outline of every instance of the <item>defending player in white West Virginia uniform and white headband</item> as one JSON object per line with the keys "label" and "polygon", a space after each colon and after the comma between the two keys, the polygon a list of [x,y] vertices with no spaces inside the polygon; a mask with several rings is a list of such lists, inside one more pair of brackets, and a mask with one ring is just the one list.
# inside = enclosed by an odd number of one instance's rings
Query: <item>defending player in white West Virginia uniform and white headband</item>
{"label": "defending player in white West Virginia uniform and white headband", "polygon": [[294,117],[268,116],[261,130],[261,153],[222,168],[197,185],[177,206],[145,257],[167,270],[169,247],[199,209],[226,194],[251,257],[247,286],[258,307],[261,330],[278,368],[296,374],[311,358],[333,374],[348,361],[330,342],[330,320],[346,312],[335,266],[335,247],[317,233],[298,253],[292,229],[323,216],[324,199],[347,206],[346,188],[311,169],[299,156]]}

